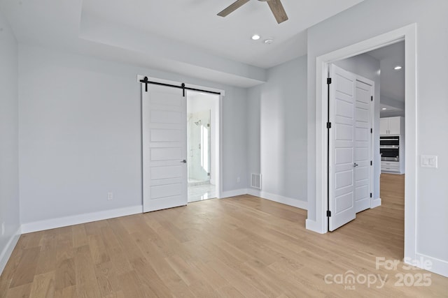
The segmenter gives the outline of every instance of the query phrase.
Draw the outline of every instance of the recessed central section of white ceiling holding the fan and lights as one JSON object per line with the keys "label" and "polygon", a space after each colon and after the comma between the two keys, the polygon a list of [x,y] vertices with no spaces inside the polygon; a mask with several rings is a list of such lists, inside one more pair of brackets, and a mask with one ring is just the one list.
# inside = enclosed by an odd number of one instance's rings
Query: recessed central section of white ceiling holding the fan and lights
{"label": "recessed central section of white ceiling holding the fan and lights", "polygon": [[[235,0],[85,0],[83,13],[172,38],[245,64],[269,68],[307,52],[306,29],[360,0],[283,0],[289,20],[277,24],[267,3],[251,0],[218,17]],[[106,8],[106,9],[105,9]],[[258,33],[262,38],[251,40]],[[272,45],[263,40],[273,38]]]}

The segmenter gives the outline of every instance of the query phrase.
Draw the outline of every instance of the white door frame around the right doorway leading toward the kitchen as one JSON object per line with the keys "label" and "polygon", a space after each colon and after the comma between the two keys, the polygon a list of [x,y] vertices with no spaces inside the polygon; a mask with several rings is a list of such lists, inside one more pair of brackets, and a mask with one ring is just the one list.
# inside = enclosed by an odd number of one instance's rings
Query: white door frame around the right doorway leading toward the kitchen
{"label": "white door frame around the right doorway leading toward the kitchen", "polygon": [[[406,130],[406,176],[405,176],[405,260],[416,260],[416,24],[381,34],[360,43],[349,45],[334,52],[316,57],[316,223],[307,228],[320,233],[327,227],[327,161],[326,161],[326,115],[327,115],[327,69],[328,64],[363,54],[405,40],[405,130]],[[308,221],[307,221],[308,222]]]}

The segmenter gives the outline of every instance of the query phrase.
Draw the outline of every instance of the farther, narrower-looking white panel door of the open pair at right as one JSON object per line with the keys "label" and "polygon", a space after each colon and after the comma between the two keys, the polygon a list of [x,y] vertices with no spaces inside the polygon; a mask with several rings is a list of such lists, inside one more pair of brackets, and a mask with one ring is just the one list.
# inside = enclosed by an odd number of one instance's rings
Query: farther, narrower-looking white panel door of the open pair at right
{"label": "farther, narrower-looking white panel door of the open pair at right", "polygon": [[371,180],[370,172],[372,158],[372,128],[371,110],[372,83],[358,78],[356,80],[355,96],[355,210],[356,213],[370,208]]}

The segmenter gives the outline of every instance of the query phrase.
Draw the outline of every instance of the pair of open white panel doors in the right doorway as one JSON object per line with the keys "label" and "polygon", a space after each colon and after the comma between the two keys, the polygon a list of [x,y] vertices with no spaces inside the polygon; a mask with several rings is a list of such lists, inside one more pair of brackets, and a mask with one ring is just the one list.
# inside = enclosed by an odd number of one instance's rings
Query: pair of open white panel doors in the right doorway
{"label": "pair of open white panel doors in the right doorway", "polygon": [[374,82],[330,66],[329,230],[370,208]]}

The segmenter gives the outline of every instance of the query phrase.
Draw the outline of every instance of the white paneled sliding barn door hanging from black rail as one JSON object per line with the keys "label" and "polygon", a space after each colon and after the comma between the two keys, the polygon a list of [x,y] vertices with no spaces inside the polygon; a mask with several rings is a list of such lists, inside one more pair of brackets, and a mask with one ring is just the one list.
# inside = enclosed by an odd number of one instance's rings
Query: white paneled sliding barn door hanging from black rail
{"label": "white paneled sliding barn door hanging from black rail", "polygon": [[173,87],[141,87],[143,211],[186,205],[186,98]]}

